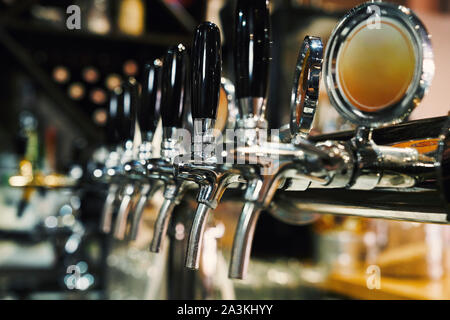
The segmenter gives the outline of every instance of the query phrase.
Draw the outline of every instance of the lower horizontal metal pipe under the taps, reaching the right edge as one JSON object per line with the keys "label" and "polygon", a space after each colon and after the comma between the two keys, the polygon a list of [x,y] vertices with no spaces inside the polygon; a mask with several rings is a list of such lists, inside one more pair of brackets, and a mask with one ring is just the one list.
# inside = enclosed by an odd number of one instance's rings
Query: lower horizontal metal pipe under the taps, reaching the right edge
{"label": "lower horizontal metal pipe under the taps, reaching the right edge", "polygon": [[[280,192],[275,201],[299,215],[334,214],[365,218],[450,224],[450,215],[437,191],[308,190]],[[276,213],[272,213],[276,216]],[[299,219],[300,221],[301,219]]]}

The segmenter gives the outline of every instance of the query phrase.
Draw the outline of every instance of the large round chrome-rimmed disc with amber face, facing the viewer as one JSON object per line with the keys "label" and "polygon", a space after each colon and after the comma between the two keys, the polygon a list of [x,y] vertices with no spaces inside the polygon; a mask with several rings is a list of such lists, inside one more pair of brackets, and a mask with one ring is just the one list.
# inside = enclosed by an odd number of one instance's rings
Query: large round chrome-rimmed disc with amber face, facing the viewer
{"label": "large round chrome-rimmed disc with amber face, facing the viewer", "polygon": [[[397,38],[401,39],[400,44]],[[386,43],[390,47],[384,47]],[[411,63],[403,60],[401,50],[408,53]],[[368,70],[375,70],[378,76]],[[381,79],[380,75],[386,78]],[[430,35],[419,18],[404,6],[364,3],[340,21],[327,44],[328,96],[345,119],[358,125],[373,128],[401,122],[420,103],[433,76]]]}

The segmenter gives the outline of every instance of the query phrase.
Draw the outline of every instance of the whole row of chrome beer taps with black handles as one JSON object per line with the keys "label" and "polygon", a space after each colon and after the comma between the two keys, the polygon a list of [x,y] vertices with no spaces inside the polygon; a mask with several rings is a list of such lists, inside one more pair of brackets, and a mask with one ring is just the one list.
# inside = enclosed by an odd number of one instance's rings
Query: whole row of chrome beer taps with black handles
{"label": "whole row of chrome beer taps with black handles", "polygon": [[[186,267],[191,269],[199,268],[208,217],[226,189],[244,190],[229,269],[231,278],[242,279],[258,217],[277,191],[418,187],[422,173],[434,169],[435,159],[411,148],[377,146],[369,127],[360,127],[351,141],[308,140],[323,62],[323,44],[317,37],[305,38],[300,49],[290,138],[269,135],[265,109],[272,42],[267,1],[237,1],[235,19],[234,85],[222,79],[218,27],[200,24],[190,59],[183,44],[171,47],[161,60],[145,66],[141,84],[130,78],[111,94],[108,154],[93,176],[109,185],[101,229],[117,239],[136,239],[148,200],[162,188],[164,201],[150,245],[156,253],[174,208],[188,191],[196,190],[198,206],[186,253]],[[230,106],[236,103],[238,109],[228,125],[232,137],[220,138],[214,129],[221,86]],[[193,119],[190,150],[179,134],[186,127],[187,95]],[[157,155],[152,146],[160,119],[163,134]],[[139,145],[134,145],[136,128]]]}

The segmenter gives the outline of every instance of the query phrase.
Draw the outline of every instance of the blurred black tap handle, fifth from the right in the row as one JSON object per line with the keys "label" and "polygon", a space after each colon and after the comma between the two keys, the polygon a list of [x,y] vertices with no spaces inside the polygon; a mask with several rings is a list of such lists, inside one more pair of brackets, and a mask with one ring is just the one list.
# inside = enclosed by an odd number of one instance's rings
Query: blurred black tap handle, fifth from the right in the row
{"label": "blurred black tap handle, fifth from the right in the row", "polygon": [[128,141],[134,138],[136,110],[139,105],[139,88],[136,79],[127,79],[122,89],[119,99],[120,123],[118,129],[121,141]]}

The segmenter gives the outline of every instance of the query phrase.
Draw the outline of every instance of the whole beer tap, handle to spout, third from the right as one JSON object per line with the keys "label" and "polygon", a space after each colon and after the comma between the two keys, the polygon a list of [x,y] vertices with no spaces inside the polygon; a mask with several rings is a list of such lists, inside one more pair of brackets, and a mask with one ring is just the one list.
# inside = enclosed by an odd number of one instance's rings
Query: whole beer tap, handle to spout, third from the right
{"label": "whole beer tap, handle to spout, third from the right", "polygon": [[164,183],[164,201],[156,219],[151,252],[159,252],[166,237],[172,211],[189,188],[189,183],[174,177],[174,160],[182,153],[181,131],[187,73],[186,48],[179,44],[168,50],[162,68],[161,120],[163,140],[161,157],[147,164],[148,177]]}

